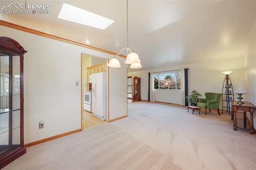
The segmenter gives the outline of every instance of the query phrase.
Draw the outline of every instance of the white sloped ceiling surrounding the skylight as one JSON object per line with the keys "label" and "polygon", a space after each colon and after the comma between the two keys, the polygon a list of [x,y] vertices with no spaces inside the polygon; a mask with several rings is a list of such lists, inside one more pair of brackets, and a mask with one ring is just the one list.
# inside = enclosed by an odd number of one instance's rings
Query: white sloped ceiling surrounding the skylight
{"label": "white sloped ceiling surrounding the skylight", "polygon": [[[1,0],[0,6],[10,2]],[[0,19],[115,53],[126,47],[126,0],[26,1],[32,2],[50,4],[50,14],[1,14]],[[64,2],[115,22],[101,30],[58,19]],[[143,66],[133,70],[140,71],[243,57],[256,0],[129,0],[128,12],[129,46]]]}

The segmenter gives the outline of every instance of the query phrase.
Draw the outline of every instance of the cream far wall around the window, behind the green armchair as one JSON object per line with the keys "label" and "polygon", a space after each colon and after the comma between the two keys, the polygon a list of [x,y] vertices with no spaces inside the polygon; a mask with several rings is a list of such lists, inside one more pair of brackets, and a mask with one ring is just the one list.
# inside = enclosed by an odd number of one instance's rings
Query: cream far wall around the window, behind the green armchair
{"label": "cream far wall around the window, behind the green armchair", "polygon": [[[232,81],[234,90],[239,86],[239,84],[244,87],[244,65],[241,63],[244,63],[244,57],[230,60],[213,60],[202,63],[178,65],[174,67],[166,67],[146,71],[129,72],[128,76],[141,77],[141,98],[142,100],[148,100],[149,72],[171,71],[182,68],[189,68],[188,92],[196,90],[202,95],[202,97],[204,97],[205,92],[222,93],[222,85],[225,79],[225,75],[223,75],[221,71],[234,71],[232,74],[230,74],[230,79]],[[156,101],[180,104],[180,90],[155,89],[154,94]],[[222,109],[222,105],[220,105],[220,108]]]}

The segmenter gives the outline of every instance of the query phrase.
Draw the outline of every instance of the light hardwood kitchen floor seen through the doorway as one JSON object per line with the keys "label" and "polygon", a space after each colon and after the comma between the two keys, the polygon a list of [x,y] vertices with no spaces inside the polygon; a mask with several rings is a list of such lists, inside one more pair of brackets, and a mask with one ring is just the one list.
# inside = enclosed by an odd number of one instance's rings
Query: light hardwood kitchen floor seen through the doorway
{"label": "light hardwood kitchen floor seen through the doorway", "polygon": [[100,125],[102,123],[106,123],[106,121],[102,121],[101,119],[98,119],[97,117],[93,116],[92,113],[85,111],[82,109],[83,112],[83,119],[82,119],[82,129],[93,127],[95,125]]}

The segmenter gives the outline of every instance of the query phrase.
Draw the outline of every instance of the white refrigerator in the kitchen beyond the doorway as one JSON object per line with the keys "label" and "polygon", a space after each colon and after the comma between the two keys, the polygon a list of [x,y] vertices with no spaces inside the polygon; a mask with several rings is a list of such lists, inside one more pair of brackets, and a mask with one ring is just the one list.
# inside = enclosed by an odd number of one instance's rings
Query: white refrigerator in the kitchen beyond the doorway
{"label": "white refrigerator in the kitchen beyond the doorway", "polygon": [[106,72],[92,74],[92,115],[106,120]]}

